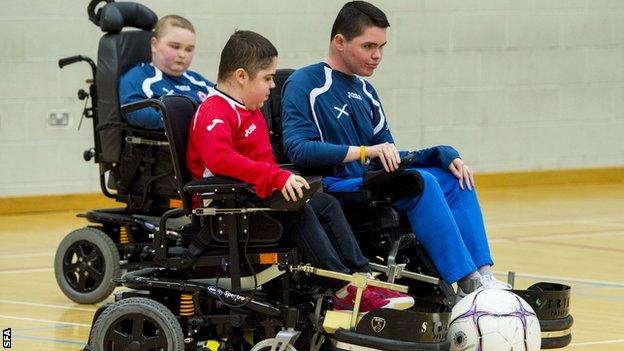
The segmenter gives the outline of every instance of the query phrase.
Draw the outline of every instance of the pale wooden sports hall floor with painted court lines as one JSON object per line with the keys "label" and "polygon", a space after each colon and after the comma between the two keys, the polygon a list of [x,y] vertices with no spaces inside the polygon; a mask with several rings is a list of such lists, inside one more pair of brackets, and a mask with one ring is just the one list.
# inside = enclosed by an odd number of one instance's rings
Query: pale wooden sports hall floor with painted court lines
{"label": "pale wooden sports hall floor with painted court lines", "polygon": [[[624,183],[490,188],[480,198],[496,272],[516,271],[519,288],[572,286],[565,349],[624,350]],[[96,306],[65,298],[52,269],[58,243],[85,224],[74,212],[0,215],[0,327],[11,328],[13,350],[85,343]]]}

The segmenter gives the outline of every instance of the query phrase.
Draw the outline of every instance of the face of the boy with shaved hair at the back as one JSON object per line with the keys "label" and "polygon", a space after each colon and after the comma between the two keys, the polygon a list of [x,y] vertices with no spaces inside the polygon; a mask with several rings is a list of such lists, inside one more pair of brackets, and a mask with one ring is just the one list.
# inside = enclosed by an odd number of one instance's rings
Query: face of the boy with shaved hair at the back
{"label": "face of the boy with shaved hair at the back", "polygon": [[167,26],[160,39],[152,38],[152,63],[165,74],[179,77],[193,61],[195,33]]}

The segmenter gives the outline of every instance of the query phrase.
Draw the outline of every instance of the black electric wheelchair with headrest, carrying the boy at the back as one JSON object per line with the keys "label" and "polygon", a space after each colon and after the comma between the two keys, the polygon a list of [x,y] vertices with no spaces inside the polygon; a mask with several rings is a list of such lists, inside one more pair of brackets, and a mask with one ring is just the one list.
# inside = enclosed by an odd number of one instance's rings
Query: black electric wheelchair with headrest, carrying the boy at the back
{"label": "black electric wheelchair with headrest, carrying the boy at the back", "polygon": [[[86,62],[91,67],[89,91],[78,91],[78,98],[85,101],[83,118],[93,122],[94,147],[83,156],[99,165],[102,193],[125,207],[79,214],[90,224],[69,233],[57,249],[58,285],[78,303],[105,299],[115,288],[112,279],[123,270],[149,265],[147,248],[160,215],[180,205],[163,131],[125,123],[118,97],[119,76],[140,62],[151,61],[149,41],[158,17],[143,5],[112,0],[90,1],[87,13],[105,33],[98,46],[97,66],[82,55],[60,59],[58,64],[63,68]],[[124,27],[138,30],[122,31]],[[175,229],[169,232],[170,240],[181,240],[184,224],[170,224]]]}

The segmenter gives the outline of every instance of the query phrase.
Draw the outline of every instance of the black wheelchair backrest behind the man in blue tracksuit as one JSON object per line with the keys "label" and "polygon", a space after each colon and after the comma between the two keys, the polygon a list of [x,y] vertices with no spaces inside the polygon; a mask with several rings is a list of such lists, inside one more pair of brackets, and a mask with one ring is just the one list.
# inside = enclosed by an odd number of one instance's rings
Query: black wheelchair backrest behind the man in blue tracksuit
{"label": "black wheelchair backrest behind the man in blue tracksuit", "polygon": [[262,114],[264,114],[267,127],[269,128],[273,154],[277,158],[277,163],[279,164],[290,162],[284,154],[282,143],[282,88],[288,77],[294,71],[295,70],[289,68],[277,70],[275,77],[273,77],[275,88],[271,90],[269,100],[262,106]]}

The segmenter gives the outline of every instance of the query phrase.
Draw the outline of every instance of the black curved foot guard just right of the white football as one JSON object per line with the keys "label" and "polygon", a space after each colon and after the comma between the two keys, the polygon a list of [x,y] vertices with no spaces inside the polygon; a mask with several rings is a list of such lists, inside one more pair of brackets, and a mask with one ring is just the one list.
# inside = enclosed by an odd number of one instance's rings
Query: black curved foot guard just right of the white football
{"label": "black curved foot guard just right of the white football", "polygon": [[513,290],[531,305],[540,321],[542,349],[565,347],[572,341],[570,292],[568,285],[540,282],[526,290]]}

